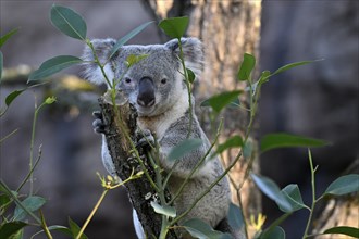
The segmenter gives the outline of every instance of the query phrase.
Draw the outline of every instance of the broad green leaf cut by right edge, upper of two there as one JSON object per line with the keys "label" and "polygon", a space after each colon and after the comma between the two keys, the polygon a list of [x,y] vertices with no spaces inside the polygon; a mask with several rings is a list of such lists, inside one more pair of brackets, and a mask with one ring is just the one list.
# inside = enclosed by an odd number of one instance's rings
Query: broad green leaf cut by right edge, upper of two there
{"label": "broad green leaf cut by right edge, upper of two there", "polygon": [[324,194],[344,196],[356,191],[359,191],[359,174],[349,174],[333,181]]}

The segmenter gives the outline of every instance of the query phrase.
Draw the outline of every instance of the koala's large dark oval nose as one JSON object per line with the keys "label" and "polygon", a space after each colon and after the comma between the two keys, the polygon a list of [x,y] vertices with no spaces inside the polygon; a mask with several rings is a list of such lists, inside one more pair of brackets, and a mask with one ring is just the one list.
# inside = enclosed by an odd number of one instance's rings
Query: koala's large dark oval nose
{"label": "koala's large dark oval nose", "polygon": [[143,77],[139,80],[137,103],[144,108],[154,104],[154,85],[151,78]]}

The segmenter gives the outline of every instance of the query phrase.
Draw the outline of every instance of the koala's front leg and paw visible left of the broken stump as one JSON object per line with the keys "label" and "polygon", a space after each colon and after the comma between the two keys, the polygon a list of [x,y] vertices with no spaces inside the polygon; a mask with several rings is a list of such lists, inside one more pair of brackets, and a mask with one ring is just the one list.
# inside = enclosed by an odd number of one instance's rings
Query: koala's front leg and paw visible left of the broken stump
{"label": "koala's front leg and paw visible left of the broken stump", "polygon": [[101,147],[101,155],[102,155],[102,163],[104,168],[111,174],[112,176],[116,175],[116,169],[114,167],[112,158],[110,155],[108,144],[106,142],[106,134],[108,134],[108,126],[103,123],[102,112],[95,111],[92,113],[94,117],[96,118],[92,123],[94,131],[102,135],[102,147]]}

